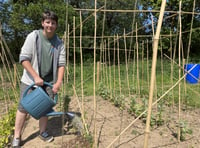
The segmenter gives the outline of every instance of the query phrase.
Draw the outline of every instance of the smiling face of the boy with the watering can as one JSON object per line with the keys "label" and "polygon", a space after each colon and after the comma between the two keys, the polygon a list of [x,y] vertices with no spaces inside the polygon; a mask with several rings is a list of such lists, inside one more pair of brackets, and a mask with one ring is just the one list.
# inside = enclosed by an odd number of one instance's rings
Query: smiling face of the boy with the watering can
{"label": "smiling face of the boy with the watering can", "polygon": [[42,21],[42,27],[45,35],[47,37],[52,37],[52,35],[54,35],[56,31],[57,23],[52,19],[45,19],[44,21]]}

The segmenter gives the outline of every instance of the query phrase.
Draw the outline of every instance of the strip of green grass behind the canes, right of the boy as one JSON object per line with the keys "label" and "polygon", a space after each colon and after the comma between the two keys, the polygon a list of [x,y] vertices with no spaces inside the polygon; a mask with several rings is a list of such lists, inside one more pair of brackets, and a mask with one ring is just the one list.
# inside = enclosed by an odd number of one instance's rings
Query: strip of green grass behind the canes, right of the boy
{"label": "strip of green grass behind the canes, right of the boy", "polygon": [[[149,81],[151,74],[151,61],[149,61],[149,71],[147,72],[147,62],[144,61],[139,62],[139,88],[137,81],[137,70],[136,68],[133,70],[133,63],[128,65],[128,81],[126,75],[126,66],[125,64],[120,65],[120,81],[119,84],[119,74],[118,74],[118,66],[112,65],[111,68],[104,65],[101,65],[101,74],[100,74],[100,82],[108,89],[111,93],[116,95],[121,93],[125,96],[129,96],[128,83],[130,87],[130,94],[135,95],[140,91],[141,96],[146,96],[148,98],[149,92]],[[156,87],[155,87],[155,96],[159,98],[163,93],[165,93],[169,88],[171,88],[178,81],[178,66],[174,65],[173,72],[173,83],[171,81],[171,65],[168,61],[163,61],[163,71],[161,70],[161,62],[158,60],[157,69],[156,69]],[[143,65],[142,65],[143,64]],[[135,65],[136,67],[136,65]],[[115,68],[115,76],[114,76],[114,68]],[[83,65],[83,90],[85,96],[93,95],[93,63]],[[65,84],[66,93],[70,96],[73,95],[73,85],[74,85],[74,73],[73,73],[73,65],[69,66],[69,81]],[[97,76],[97,75],[96,75]],[[114,79],[115,77],[115,79]],[[148,81],[149,80],[149,81]],[[76,65],[76,93],[78,96],[81,95],[81,66]],[[120,87],[121,85],[121,87]],[[115,86],[115,88],[114,88]],[[98,94],[98,87],[96,85],[96,93]],[[102,85],[101,85],[102,87]],[[111,87],[111,88],[110,88]],[[104,89],[105,89],[104,88]],[[185,83],[185,81],[181,81],[181,102],[184,105],[192,106],[199,108],[200,107],[200,99],[199,99],[199,84],[189,84]],[[178,103],[178,85],[170,91],[165,97],[164,100],[169,101],[171,103]]]}

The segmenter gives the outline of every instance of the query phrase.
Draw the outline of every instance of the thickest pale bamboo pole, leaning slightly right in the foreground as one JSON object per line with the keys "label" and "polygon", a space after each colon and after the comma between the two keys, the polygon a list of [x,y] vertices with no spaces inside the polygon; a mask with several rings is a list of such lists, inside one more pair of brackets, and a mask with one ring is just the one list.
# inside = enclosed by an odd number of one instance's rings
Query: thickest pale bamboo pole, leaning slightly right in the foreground
{"label": "thickest pale bamboo pole, leaning slightly right in the foreground", "polygon": [[147,148],[148,146],[148,138],[149,138],[149,127],[150,127],[150,120],[151,120],[151,110],[152,110],[152,100],[153,100],[153,91],[154,91],[154,83],[155,83],[155,73],[156,73],[156,61],[157,61],[157,50],[158,50],[158,41],[159,41],[159,35],[160,30],[162,26],[162,20],[163,15],[165,11],[165,5],[166,0],[162,1],[159,20],[158,20],[158,26],[156,30],[156,34],[154,37],[153,42],[153,59],[152,59],[152,70],[151,70],[151,85],[150,85],[150,91],[149,91],[149,105],[148,105],[148,114],[147,114],[147,121],[146,121],[146,129],[145,129],[145,140],[144,140],[144,148]]}

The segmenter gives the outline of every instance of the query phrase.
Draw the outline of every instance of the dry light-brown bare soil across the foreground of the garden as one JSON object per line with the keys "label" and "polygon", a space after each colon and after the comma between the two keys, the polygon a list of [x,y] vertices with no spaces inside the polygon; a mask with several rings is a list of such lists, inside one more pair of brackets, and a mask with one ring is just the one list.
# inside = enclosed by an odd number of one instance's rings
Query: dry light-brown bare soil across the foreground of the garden
{"label": "dry light-brown bare soil across the foreground of the garden", "polygon": [[[111,102],[96,97],[97,112],[96,120],[93,119],[93,97],[85,97],[84,112],[85,121],[88,130],[94,138],[99,148],[110,147],[115,148],[142,148],[144,145],[145,123],[136,120],[131,124],[135,117],[127,111],[121,111]],[[173,107],[165,107],[163,114],[164,124],[159,127],[153,127],[149,133],[149,148],[200,148],[200,110],[191,109],[181,111],[181,119],[190,129],[192,133],[185,135],[185,140],[178,142],[176,134],[178,131],[178,109]],[[79,112],[76,99],[72,99],[70,103],[70,111]],[[23,148],[89,148],[91,143],[89,140],[78,135],[76,131],[66,131],[66,121],[62,116],[49,117],[48,131],[55,139],[51,143],[45,143],[38,138],[38,120],[30,117],[27,122],[22,136]],[[94,126],[95,125],[95,126]],[[96,134],[94,133],[96,127]],[[129,128],[127,128],[129,127]],[[125,130],[127,128],[127,130]],[[123,131],[123,134],[118,135]],[[117,138],[117,139],[116,139]],[[114,142],[113,142],[114,141]]]}

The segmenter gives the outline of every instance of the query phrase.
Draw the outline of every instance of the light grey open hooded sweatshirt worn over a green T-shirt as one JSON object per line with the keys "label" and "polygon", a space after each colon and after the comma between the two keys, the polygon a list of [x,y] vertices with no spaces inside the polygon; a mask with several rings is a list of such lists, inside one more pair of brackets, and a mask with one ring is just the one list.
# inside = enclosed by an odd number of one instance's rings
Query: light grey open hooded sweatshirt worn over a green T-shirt
{"label": "light grey open hooded sweatshirt worn over a green T-shirt", "polygon": [[[57,36],[56,36],[57,37]],[[66,53],[65,47],[62,42],[57,37],[57,42],[54,47],[53,53],[53,83],[57,81],[57,69],[60,66],[65,66],[66,64]],[[19,56],[19,62],[24,60],[30,61],[33,69],[39,74],[39,66],[41,62],[41,39],[39,35],[39,30],[34,30],[28,34],[24,45],[22,46],[21,53]],[[34,83],[33,77],[24,69],[21,82],[31,85]]]}

